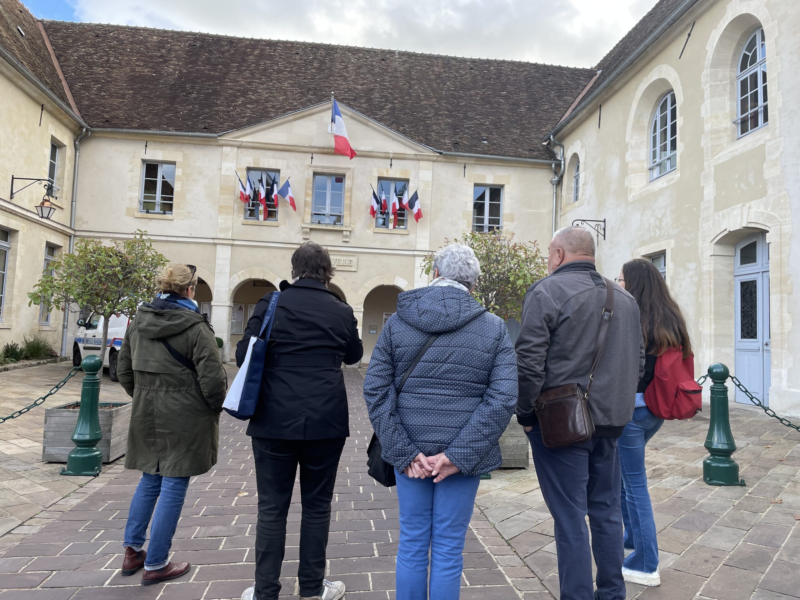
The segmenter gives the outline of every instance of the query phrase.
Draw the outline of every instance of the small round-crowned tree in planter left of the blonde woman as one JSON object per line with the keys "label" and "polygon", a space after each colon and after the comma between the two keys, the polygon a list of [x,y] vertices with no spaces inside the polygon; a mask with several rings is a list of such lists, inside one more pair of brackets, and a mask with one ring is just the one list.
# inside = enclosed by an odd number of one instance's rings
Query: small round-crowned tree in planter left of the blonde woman
{"label": "small round-crowned tree in planter left of the blonde woman", "polygon": [[50,263],[50,271],[42,274],[28,294],[28,306],[44,302],[69,310],[76,305],[86,312],[86,322],[95,314],[102,315],[100,358],[104,359],[111,315],[132,317],[142,302],[153,298],[164,265],[166,258],[154,250],[153,241],[142,230],[132,239],[112,240],[108,245],[83,238],[73,253]]}

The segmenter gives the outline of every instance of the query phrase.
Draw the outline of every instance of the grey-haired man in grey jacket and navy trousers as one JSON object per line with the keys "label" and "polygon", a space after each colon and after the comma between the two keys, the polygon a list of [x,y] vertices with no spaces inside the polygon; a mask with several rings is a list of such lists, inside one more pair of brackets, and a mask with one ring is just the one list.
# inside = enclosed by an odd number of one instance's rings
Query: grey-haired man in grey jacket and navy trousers
{"label": "grey-haired man in grey jacket and navy trousers", "polygon": [[[542,390],[589,382],[606,280],[594,266],[594,238],[582,227],[558,230],[547,258],[550,275],[534,283],[522,306],[517,339],[517,418],[526,430],[542,495],[553,515],[561,600],[622,600],[621,475],[617,438],[634,412],[645,348],[636,301],[614,286],[614,314],[594,372],[589,442],[550,449],[542,442],[536,398]],[[592,529],[597,591],[586,515]]]}

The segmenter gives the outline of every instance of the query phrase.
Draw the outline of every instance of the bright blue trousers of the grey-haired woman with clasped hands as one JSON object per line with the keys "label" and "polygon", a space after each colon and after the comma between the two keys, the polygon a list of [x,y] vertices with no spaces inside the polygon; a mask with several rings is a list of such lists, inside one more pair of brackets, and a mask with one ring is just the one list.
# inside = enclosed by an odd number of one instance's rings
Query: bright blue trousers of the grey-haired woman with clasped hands
{"label": "bright blue trousers of the grey-haired woman with clasped hands", "polygon": [[[480,476],[450,475],[441,482],[397,471],[400,543],[397,600],[458,600],[464,540]],[[430,596],[428,550],[430,548]]]}

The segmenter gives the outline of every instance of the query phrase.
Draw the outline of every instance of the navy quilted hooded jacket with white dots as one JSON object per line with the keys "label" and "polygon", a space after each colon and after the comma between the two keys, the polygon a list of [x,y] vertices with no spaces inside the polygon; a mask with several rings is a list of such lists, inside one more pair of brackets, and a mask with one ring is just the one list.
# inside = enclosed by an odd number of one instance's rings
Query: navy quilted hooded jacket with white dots
{"label": "navy quilted hooded jacket with white dots", "polygon": [[[402,374],[436,341],[398,394]],[[465,475],[497,469],[498,439],[517,403],[517,367],[506,324],[468,292],[425,287],[398,296],[364,381],[370,421],[386,462],[444,452]]]}

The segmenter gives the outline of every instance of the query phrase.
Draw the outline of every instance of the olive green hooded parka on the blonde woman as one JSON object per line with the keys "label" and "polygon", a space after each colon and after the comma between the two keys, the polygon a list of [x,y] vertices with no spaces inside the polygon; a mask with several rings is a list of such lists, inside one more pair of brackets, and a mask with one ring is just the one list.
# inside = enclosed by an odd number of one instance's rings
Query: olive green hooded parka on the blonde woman
{"label": "olive green hooded parka on the blonde woman", "polygon": [[[160,338],[189,358],[197,374],[176,361]],[[134,398],[127,469],[190,477],[214,466],[226,374],[204,315],[163,298],[140,307],[122,342],[117,374]]]}

